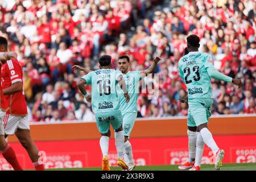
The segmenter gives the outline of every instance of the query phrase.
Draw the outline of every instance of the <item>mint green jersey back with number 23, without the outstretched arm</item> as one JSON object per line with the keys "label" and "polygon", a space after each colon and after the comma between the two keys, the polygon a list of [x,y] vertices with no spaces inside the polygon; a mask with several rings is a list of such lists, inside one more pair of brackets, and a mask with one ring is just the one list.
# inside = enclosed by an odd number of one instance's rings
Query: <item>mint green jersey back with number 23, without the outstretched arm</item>
{"label": "mint green jersey back with number 23, without the outstretched arm", "polygon": [[207,68],[213,67],[208,53],[189,52],[179,60],[180,76],[187,86],[188,98],[212,98]]}

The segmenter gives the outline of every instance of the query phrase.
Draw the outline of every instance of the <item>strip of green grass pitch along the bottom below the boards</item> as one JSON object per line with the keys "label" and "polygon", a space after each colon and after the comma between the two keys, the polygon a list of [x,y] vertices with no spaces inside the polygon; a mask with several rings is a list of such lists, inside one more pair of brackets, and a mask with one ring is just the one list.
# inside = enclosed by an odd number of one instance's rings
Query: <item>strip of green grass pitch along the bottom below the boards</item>
{"label": "strip of green grass pitch along the bottom below the boards", "polygon": [[[164,166],[137,166],[134,171],[180,171],[178,165]],[[120,167],[110,167],[112,171],[120,171]],[[90,168],[64,168],[64,169],[47,169],[56,171],[101,171],[101,167]],[[214,171],[213,164],[202,164],[201,171]],[[256,163],[240,163],[240,164],[223,164],[221,171],[256,171]]]}

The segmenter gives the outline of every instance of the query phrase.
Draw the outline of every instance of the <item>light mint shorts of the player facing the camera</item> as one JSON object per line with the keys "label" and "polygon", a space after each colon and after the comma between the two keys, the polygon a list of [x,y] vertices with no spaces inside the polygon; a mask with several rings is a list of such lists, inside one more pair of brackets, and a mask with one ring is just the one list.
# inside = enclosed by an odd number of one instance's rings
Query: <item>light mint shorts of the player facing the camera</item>
{"label": "light mint shorts of the player facing the camera", "polygon": [[133,125],[137,118],[136,113],[123,113],[123,134],[130,137],[131,130],[133,130]]}

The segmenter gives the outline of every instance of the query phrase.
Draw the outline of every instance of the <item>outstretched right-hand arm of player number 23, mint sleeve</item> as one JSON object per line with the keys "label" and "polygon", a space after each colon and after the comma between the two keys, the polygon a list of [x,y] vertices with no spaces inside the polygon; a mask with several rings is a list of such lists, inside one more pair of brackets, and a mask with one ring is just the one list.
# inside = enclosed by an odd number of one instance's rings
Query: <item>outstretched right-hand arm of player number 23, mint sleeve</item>
{"label": "outstretched right-hand arm of player number 23, mint sleeve", "polygon": [[208,57],[208,60],[205,61],[205,67],[207,68],[207,73],[210,77],[217,79],[217,80],[232,82],[234,85],[237,85],[238,88],[240,88],[242,86],[242,82],[240,79],[232,78],[232,77],[226,76],[226,75],[218,72],[213,67],[213,61],[212,61],[211,57]]}

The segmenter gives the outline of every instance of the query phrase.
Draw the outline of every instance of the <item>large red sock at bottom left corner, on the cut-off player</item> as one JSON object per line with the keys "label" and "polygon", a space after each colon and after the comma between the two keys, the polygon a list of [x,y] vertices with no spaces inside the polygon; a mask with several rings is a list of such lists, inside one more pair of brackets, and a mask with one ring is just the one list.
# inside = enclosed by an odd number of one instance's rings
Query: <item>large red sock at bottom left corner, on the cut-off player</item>
{"label": "large red sock at bottom left corner, on the cut-off player", "polygon": [[3,148],[2,155],[3,157],[11,164],[15,171],[22,171],[22,168],[19,165],[19,162],[16,158],[15,152],[9,143]]}

